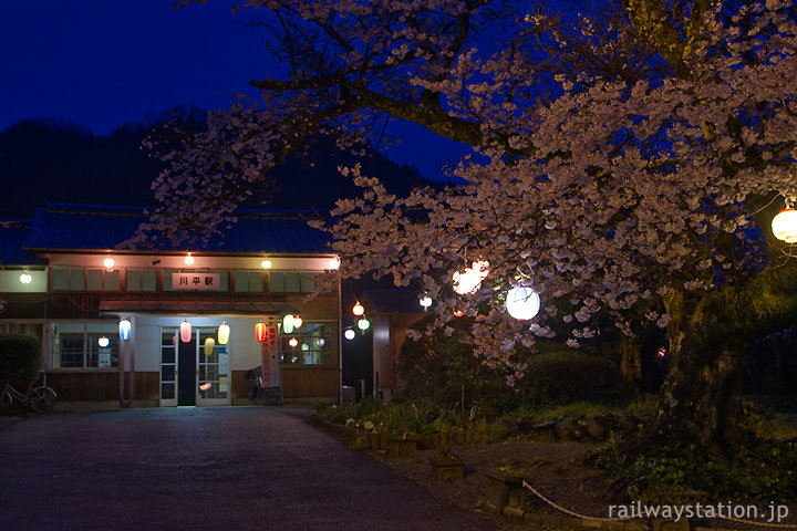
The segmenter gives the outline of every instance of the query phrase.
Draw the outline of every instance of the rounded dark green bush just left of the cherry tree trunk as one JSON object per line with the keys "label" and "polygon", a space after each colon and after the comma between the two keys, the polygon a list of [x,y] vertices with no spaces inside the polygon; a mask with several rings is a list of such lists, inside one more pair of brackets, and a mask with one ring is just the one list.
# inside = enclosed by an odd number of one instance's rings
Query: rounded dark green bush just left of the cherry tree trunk
{"label": "rounded dark green bush just left of the cherry tree trunk", "polygon": [[521,386],[535,402],[568,404],[614,386],[617,367],[605,358],[565,345],[528,357]]}

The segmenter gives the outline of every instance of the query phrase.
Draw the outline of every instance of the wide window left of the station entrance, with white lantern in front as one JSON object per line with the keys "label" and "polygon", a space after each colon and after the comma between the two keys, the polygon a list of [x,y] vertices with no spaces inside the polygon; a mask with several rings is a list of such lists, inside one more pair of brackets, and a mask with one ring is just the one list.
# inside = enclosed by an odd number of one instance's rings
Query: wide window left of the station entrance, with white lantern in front
{"label": "wide window left of the station entrance, with white lantern in front", "polygon": [[113,368],[118,366],[116,323],[52,323],[52,368]]}

